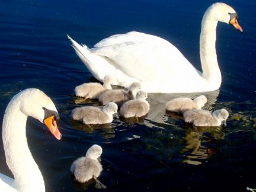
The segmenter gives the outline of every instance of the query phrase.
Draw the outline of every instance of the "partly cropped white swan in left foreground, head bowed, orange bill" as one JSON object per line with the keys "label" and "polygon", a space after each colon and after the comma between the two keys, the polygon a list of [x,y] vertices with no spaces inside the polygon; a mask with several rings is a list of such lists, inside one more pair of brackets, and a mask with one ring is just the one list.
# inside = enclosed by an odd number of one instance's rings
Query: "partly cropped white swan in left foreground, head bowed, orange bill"
{"label": "partly cropped white swan in left foreground, head bowed, orange bill", "polygon": [[52,100],[39,89],[25,89],[9,102],[2,124],[5,158],[14,179],[0,174],[0,191],[45,191],[39,167],[28,148],[25,126],[31,116],[46,124],[50,132],[60,139],[56,119],[59,119]]}

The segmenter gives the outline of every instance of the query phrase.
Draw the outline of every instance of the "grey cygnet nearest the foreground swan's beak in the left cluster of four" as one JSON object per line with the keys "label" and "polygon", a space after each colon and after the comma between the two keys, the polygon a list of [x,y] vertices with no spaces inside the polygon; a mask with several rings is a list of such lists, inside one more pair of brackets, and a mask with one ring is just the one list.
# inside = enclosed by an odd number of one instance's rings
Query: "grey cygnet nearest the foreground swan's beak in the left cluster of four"
{"label": "grey cygnet nearest the foreground swan's beak in the left cluster of four", "polygon": [[73,120],[82,120],[84,124],[105,124],[113,121],[113,114],[117,113],[117,104],[111,102],[103,107],[77,107],[72,110]]}

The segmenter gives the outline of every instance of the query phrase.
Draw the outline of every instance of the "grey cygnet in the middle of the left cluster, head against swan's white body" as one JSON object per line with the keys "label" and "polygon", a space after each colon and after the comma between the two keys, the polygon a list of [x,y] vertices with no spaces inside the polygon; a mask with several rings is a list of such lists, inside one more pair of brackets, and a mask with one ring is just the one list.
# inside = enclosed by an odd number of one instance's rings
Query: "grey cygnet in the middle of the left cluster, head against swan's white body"
{"label": "grey cygnet in the middle of the left cluster, head against swan's white body", "polygon": [[128,100],[134,100],[136,97],[137,91],[140,89],[140,83],[139,82],[133,82],[128,91],[125,91],[124,89],[114,89],[114,90],[108,90],[100,95],[99,101],[102,105],[105,105],[110,102],[114,102],[117,105],[123,104],[125,101]]}

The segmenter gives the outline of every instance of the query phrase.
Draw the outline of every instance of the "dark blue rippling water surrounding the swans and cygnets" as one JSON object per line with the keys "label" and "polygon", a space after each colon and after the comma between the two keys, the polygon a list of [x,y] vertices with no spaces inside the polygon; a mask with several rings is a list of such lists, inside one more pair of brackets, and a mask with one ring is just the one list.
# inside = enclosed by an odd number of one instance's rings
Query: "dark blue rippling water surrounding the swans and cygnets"
{"label": "dark blue rippling water surrounding the swans and cygnets", "polygon": [[[101,183],[107,191],[245,191],[256,187],[254,1],[226,1],[239,14],[244,33],[217,27],[216,49],[222,86],[206,93],[206,108],[225,107],[228,126],[199,129],[164,111],[178,94],[151,94],[151,112],[142,122],[115,119],[110,126],[88,127],[71,120],[78,106],[76,85],[92,75],[76,56],[69,34],[92,47],[112,34],[142,31],[171,41],[200,69],[199,34],[204,11],[214,1],[84,0],[1,1],[0,115],[25,88],[39,88],[55,102],[63,138],[28,119],[28,145],[44,177],[46,191],[97,190],[75,183],[69,167],[93,143],[103,147]],[[93,80],[93,79],[92,79]],[[188,95],[195,97],[198,94]],[[87,101],[80,105],[98,105]],[[10,175],[0,144],[0,172]]]}

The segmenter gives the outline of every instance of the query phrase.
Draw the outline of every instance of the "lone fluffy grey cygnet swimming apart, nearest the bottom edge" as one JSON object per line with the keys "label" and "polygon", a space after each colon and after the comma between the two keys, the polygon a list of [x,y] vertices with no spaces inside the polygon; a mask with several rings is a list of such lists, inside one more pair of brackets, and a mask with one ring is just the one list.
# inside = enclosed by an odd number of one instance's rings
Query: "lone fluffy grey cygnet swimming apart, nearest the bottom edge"
{"label": "lone fluffy grey cygnet swimming apart, nearest the bottom edge", "polygon": [[75,176],[75,180],[85,183],[91,178],[100,176],[103,170],[98,158],[101,156],[102,148],[99,145],[92,145],[88,149],[85,156],[76,159],[71,165],[71,172]]}

